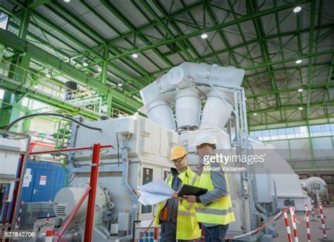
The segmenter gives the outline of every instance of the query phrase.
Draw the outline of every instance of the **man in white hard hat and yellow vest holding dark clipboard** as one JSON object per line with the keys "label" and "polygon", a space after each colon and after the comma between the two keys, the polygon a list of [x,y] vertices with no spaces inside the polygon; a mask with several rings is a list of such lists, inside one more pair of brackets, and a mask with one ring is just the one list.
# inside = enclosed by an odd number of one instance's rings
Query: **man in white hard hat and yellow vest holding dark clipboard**
{"label": "man in white hard hat and yellow vest holding dark clipboard", "polygon": [[[216,136],[209,132],[197,135],[194,145],[203,162],[206,155],[215,155]],[[219,163],[206,163],[204,167],[220,167]],[[199,187],[208,191],[201,196],[184,196],[189,203],[196,203],[197,222],[202,222],[206,242],[225,241],[228,224],[235,221],[228,180],[222,169],[205,169],[199,177]]]}

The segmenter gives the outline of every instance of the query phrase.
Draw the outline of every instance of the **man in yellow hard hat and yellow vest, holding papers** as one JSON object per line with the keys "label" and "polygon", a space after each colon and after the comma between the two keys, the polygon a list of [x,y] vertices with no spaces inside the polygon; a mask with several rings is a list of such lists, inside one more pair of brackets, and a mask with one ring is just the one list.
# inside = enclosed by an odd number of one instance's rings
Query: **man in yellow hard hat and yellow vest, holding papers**
{"label": "man in yellow hard hat and yellow vest, holding papers", "polygon": [[197,186],[199,177],[187,166],[187,151],[183,146],[174,146],[169,160],[174,163],[175,168],[171,168],[166,182],[175,193],[166,203],[159,203],[154,224],[161,224],[161,242],[194,241],[200,236],[194,203],[180,200],[177,191],[180,191],[184,184]]}

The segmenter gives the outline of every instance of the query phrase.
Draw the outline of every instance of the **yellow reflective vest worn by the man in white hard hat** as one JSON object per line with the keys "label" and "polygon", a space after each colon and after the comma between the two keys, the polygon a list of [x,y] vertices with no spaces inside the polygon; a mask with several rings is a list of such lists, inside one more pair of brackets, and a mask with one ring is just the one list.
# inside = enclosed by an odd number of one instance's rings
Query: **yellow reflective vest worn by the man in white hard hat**
{"label": "yellow reflective vest worn by the man in white hard hat", "polygon": [[[210,168],[210,165],[206,165],[206,167]],[[228,186],[228,179],[225,174],[224,177]],[[214,184],[211,181],[209,170],[204,170],[201,177],[199,177],[199,187],[208,189],[208,191],[214,190]],[[230,222],[235,222],[230,195],[214,203],[210,203],[206,207],[204,207],[202,203],[197,203],[196,218],[198,222],[208,224],[229,224]]]}

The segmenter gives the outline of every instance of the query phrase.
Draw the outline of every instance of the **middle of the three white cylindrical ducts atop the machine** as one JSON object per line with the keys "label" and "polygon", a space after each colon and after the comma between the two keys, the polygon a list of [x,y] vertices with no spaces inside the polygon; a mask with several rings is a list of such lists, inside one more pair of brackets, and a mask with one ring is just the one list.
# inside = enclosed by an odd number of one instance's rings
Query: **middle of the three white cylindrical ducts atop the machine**
{"label": "middle of the three white cylindrical ducts atop the machine", "polygon": [[175,96],[175,116],[178,129],[199,127],[201,99],[194,91],[181,90]]}

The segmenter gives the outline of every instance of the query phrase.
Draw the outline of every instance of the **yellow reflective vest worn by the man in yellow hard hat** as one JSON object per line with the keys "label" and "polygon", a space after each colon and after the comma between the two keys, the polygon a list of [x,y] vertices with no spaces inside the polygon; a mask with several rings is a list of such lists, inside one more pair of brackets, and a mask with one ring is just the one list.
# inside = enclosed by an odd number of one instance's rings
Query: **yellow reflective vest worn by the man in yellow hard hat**
{"label": "yellow reflective vest worn by the man in yellow hard hat", "polygon": [[[198,186],[199,176],[187,167],[187,170],[178,174],[178,178],[182,181],[182,184]],[[166,178],[166,182],[169,186],[172,186],[173,174],[169,174]],[[154,224],[159,224],[159,214],[163,210],[165,203],[159,203],[158,212],[154,219]],[[179,201],[178,205],[178,218],[176,220],[176,239],[179,240],[192,240],[201,236],[201,230],[196,220],[195,204],[188,203],[183,200]]]}

